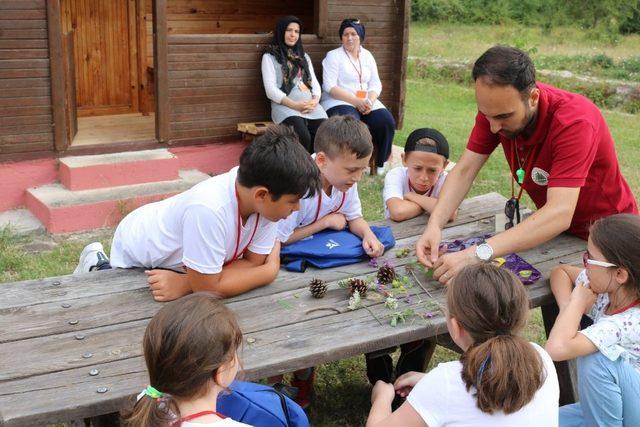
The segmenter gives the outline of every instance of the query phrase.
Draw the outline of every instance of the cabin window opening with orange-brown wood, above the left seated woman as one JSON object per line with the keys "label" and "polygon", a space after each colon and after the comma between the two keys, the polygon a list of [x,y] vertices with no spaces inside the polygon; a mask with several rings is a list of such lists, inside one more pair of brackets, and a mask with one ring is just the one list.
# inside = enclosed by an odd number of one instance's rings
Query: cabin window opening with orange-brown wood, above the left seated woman
{"label": "cabin window opening with orange-brown wood, above the left seated woman", "polygon": [[169,34],[266,34],[286,15],[317,34],[321,0],[167,0]]}

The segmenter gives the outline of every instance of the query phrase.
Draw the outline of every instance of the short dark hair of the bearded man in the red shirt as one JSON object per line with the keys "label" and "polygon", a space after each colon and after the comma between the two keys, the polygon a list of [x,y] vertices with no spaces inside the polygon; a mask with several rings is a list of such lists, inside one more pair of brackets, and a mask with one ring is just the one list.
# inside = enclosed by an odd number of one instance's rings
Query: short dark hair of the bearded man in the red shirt
{"label": "short dark hair of the bearded man in the red shirt", "polygon": [[525,52],[510,46],[494,46],[473,64],[473,80],[480,77],[498,86],[513,86],[528,95],[536,85],[536,68]]}

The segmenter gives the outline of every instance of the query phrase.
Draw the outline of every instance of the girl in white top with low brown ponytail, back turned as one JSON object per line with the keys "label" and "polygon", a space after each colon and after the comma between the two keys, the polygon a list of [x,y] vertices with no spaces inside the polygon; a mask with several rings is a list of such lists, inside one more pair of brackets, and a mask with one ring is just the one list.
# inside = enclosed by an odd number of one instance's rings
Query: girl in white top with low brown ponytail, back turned
{"label": "girl in white top with low brown ponytail, back turned", "polygon": [[[519,336],[529,303],[513,273],[467,266],[449,285],[447,305],[447,329],[462,357],[395,384],[378,381],[367,427],[557,426],[555,368],[540,346]],[[392,413],[396,394],[407,400]]]}

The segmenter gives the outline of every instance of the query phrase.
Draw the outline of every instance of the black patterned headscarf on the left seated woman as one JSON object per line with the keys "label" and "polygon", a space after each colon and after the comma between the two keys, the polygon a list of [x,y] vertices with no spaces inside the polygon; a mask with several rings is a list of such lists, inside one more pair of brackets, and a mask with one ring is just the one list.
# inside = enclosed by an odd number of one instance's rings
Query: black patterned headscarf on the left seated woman
{"label": "black patterned headscarf on the left seated woman", "polygon": [[[300,26],[300,38],[293,47],[287,46],[284,42],[284,35],[287,27],[292,22]],[[311,90],[311,73],[309,64],[304,56],[302,47],[302,23],[295,16],[285,16],[280,18],[276,24],[276,32],[273,34],[273,41],[267,47],[265,53],[270,53],[276,58],[282,70],[282,86],[280,90],[288,94],[293,89],[293,81],[302,70],[302,82]]]}

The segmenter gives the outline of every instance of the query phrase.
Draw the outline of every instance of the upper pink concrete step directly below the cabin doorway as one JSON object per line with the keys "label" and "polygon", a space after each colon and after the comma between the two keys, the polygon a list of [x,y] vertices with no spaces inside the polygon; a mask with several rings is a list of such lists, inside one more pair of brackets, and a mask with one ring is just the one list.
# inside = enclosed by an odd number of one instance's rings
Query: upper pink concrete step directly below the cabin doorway
{"label": "upper pink concrete step directly below the cabin doorway", "polygon": [[60,159],[58,176],[69,190],[91,190],[178,179],[180,162],[167,149],[71,156]]}

